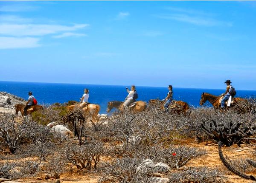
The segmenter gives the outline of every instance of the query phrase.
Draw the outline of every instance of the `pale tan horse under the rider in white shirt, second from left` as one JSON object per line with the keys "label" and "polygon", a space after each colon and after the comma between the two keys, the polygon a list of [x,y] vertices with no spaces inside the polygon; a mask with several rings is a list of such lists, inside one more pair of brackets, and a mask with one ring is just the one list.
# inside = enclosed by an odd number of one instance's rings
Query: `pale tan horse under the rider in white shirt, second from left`
{"label": "pale tan horse under the rider in white shirt, second from left", "polygon": [[[73,110],[75,108],[80,108],[80,104],[67,106],[68,110]],[[85,107],[83,107],[82,110],[84,111],[84,113],[90,113],[94,122],[99,121],[98,113],[100,110],[100,106],[98,104],[88,104]]]}

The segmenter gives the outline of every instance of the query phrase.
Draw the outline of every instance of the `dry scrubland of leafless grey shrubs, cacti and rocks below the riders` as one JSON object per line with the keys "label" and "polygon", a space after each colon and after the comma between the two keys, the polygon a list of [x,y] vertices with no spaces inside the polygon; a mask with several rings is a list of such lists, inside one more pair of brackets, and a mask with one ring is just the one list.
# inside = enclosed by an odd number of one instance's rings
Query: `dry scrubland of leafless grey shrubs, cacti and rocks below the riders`
{"label": "dry scrubland of leafless grey shrubs, cacti and rocks below the riders", "polygon": [[[237,182],[254,180],[256,102],[248,104],[247,113],[202,107],[189,115],[154,106],[99,115],[98,123],[79,109],[67,111],[66,104],[44,106],[26,118],[3,114],[0,178],[40,182],[93,175],[98,183],[224,183],[239,175]],[[207,157],[214,166],[204,162]]]}

